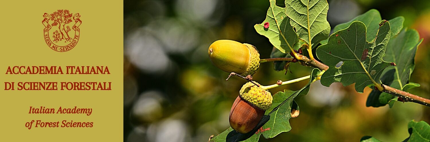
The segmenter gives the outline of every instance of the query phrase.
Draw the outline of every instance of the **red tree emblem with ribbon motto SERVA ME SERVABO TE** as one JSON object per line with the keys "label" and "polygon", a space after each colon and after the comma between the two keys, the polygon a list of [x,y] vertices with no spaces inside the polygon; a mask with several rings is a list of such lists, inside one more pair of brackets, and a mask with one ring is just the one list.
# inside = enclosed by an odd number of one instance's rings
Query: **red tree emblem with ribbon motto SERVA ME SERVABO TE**
{"label": "red tree emblem with ribbon motto SERVA ME SERVABO TE", "polygon": [[79,41],[79,26],[82,24],[79,13],[73,15],[67,9],[57,10],[43,14],[43,18],[43,36],[52,50],[64,52],[76,46]]}

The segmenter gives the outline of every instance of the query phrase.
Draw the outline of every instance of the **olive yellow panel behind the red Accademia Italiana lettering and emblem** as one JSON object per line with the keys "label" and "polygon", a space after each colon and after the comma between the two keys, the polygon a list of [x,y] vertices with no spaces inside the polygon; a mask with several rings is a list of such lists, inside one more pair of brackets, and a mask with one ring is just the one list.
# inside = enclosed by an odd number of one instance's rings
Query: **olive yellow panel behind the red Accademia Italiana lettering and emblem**
{"label": "olive yellow panel behind the red Accademia Italiana lettering and emblem", "polygon": [[[79,13],[80,39],[66,52],[43,38],[43,14]],[[0,4],[0,142],[123,141],[123,1],[3,0]],[[108,66],[109,75],[6,75],[7,66]],[[3,82],[112,82],[111,91],[4,91]],[[92,114],[28,114],[29,107],[92,108]],[[92,128],[32,128],[42,121],[92,121]]]}

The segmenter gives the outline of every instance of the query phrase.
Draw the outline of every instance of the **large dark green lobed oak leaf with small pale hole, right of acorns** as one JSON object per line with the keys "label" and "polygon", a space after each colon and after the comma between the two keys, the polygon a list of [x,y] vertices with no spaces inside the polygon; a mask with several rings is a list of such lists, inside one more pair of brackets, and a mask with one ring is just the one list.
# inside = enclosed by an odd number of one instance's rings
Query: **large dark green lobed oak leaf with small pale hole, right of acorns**
{"label": "large dark green lobed oak leaf with small pale hole, right of acorns", "polygon": [[[322,85],[341,82],[347,86],[355,83],[356,91],[362,93],[366,86],[379,82],[382,71],[390,66],[382,60],[382,56],[391,34],[388,21],[383,20],[379,25],[373,42],[366,41],[365,24],[354,21],[348,28],[333,33],[327,44],[316,49],[318,58],[329,66],[321,76]],[[341,61],[343,64],[336,67]]]}

